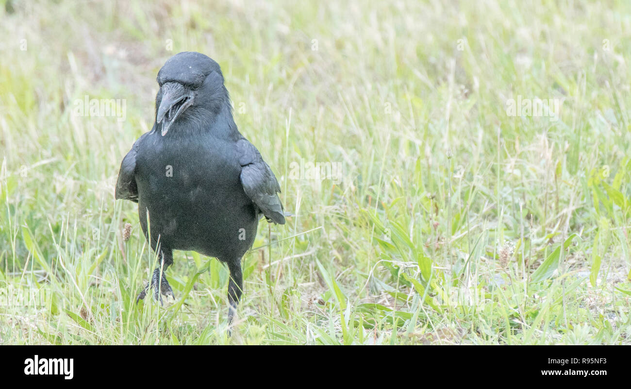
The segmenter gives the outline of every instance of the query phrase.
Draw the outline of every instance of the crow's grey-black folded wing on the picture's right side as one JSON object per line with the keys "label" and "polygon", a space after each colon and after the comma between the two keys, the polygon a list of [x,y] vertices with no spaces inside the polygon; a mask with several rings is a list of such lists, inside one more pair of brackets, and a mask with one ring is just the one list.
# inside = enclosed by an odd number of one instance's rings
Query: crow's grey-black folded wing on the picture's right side
{"label": "crow's grey-black folded wing on the picture's right side", "polygon": [[259,150],[246,139],[237,141],[237,152],[245,195],[254,202],[268,222],[285,224],[283,205],[277,195],[280,186],[269,165],[262,159]]}

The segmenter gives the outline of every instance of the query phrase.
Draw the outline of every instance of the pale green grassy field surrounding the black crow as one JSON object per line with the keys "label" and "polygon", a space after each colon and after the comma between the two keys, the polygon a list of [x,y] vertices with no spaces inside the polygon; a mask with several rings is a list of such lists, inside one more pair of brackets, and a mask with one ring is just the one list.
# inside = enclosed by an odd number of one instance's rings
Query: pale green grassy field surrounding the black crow
{"label": "pale green grassy field surrounding the black crow", "polygon": [[[631,343],[630,2],[0,3],[0,344]],[[214,258],[135,304],[155,258],[114,201],[180,51],[294,214],[232,337]]]}

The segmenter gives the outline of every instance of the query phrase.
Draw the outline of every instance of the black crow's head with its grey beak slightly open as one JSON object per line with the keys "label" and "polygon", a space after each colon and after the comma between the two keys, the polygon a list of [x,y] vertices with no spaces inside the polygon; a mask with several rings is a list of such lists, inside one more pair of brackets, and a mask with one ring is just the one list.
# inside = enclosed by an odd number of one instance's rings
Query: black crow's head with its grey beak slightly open
{"label": "black crow's head with its grey beak slightly open", "polygon": [[180,52],[167,59],[158,72],[158,85],[156,124],[162,125],[162,136],[176,121],[212,117],[229,104],[219,64],[199,52]]}

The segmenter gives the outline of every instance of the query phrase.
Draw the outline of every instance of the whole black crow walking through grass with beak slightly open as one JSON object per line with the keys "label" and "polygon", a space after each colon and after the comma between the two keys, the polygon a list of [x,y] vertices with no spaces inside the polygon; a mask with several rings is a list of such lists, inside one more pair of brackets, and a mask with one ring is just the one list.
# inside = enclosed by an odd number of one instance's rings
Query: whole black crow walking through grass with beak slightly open
{"label": "whole black crow walking through grass with beak slightly open", "polygon": [[155,124],[121,163],[115,197],[138,203],[140,225],[160,266],[156,300],[173,296],[164,270],[173,250],[215,257],[230,270],[228,323],[242,293],[241,258],[261,216],[285,224],[280,186],[259,151],[239,133],[219,64],[180,52],[158,72]]}

